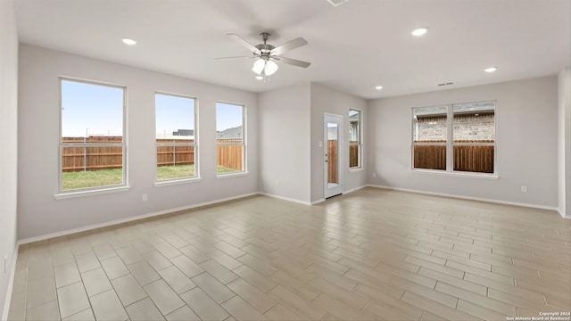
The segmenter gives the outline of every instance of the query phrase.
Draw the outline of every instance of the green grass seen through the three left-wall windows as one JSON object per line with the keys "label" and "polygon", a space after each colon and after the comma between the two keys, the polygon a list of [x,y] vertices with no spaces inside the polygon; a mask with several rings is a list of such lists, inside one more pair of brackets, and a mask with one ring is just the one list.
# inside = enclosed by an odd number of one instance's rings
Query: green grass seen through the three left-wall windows
{"label": "green grass seen through the three left-wall windows", "polygon": [[[219,166],[218,174],[236,172],[236,169],[229,169]],[[185,177],[194,177],[194,164],[161,166],[157,168],[157,180],[169,180]],[[74,189],[121,185],[123,183],[123,169],[103,169],[87,170],[85,172],[64,172],[62,173],[62,191]]]}

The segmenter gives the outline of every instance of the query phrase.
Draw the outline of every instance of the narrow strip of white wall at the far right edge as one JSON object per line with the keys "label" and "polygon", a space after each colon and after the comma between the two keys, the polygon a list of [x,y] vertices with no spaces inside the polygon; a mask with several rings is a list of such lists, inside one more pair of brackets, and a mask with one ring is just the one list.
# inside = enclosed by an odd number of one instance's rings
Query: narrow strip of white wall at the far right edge
{"label": "narrow strip of white wall at the far right edge", "polygon": [[559,213],[571,218],[571,68],[559,72]]}

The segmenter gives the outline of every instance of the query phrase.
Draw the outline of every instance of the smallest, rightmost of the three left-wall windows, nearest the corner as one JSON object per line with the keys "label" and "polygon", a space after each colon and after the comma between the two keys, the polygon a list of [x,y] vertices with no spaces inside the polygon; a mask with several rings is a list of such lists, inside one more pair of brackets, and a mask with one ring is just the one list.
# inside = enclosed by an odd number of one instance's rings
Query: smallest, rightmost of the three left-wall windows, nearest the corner
{"label": "smallest, rightmost of the three left-wall windows, nearest the corner", "polygon": [[245,171],[245,107],[216,103],[216,145],[218,175]]}

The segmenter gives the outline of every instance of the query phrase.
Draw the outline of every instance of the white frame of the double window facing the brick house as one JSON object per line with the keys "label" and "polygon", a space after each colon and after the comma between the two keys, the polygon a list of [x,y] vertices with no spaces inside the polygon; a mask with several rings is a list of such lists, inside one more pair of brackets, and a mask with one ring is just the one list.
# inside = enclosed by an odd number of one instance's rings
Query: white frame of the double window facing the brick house
{"label": "white frame of the double window facing the brick house", "polygon": [[[469,103],[493,103],[493,129],[494,139],[493,143],[454,143],[454,106],[459,104]],[[446,143],[415,143],[414,136],[414,110],[426,107],[446,107]],[[468,103],[446,103],[434,106],[412,107],[410,110],[410,170],[422,174],[446,175],[457,177],[481,177],[481,178],[499,178],[498,175],[498,117],[497,117],[498,103],[496,100],[484,100]],[[415,145],[445,145],[446,146],[446,169],[418,169],[414,167],[414,146]],[[470,145],[470,146],[493,146],[493,173],[472,172],[464,170],[454,170],[454,146]]]}

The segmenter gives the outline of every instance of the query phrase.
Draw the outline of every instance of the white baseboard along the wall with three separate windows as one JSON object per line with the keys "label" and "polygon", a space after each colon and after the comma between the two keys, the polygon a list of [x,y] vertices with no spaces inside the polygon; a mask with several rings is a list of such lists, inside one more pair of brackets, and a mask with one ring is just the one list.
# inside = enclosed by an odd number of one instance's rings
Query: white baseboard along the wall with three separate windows
{"label": "white baseboard along the wall with three separate windows", "polygon": [[219,200],[214,200],[214,201],[210,201],[210,202],[202,202],[202,203],[198,203],[198,204],[192,204],[192,205],[188,205],[188,206],[182,206],[182,207],[178,207],[178,208],[174,208],[174,209],[169,209],[169,210],[160,210],[160,211],[156,211],[153,213],[148,213],[148,214],[142,214],[142,215],[137,215],[134,217],[130,217],[130,218],[121,218],[121,219],[116,219],[116,220],[112,220],[112,221],[108,221],[108,222],[103,222],[103,223],[98,223],[98,224],[92,224],[92,225],[88,225],[88,226],[82,226],[82,227],[78,227],[78,228],[72,228],[69,230],[65,230],[65,231],[61,231],[61,232],[55,232],[55,233],[50,233],[47,235],[39,235],[39,236],[33,236],[33,237],[29,237],[29,238],[25,238],[25,239],[21,239],[18,241],[18,244],[26,244],[26,243],[33,243],[33,242],[37,242],[37,241],[44,241],[44,240],[48,240],[54,237],[60,237],[60,236],[65,236],[65,235],[72,235],[72,234],[76,234],[76,233],[81,233],[81,232],[86,232],[86,231],[90,231],[90,230],[94,230],[97,228],[102,228],[102,227],[107,227],[107,226],[114,226],[114,225],[119,225],[119,224],[123,224],[123,223],[128,223],[128,222],[132,222],[132,221],[136,221],[139,219],[144,219],[144,218],[153,218],[153,217],[157,217],[157,216],[161,216],[161,215],[165,215],[165,214],[170,214],[170,213],[174,213],[174,212],[178,212],[181,210],[193,210],[196,208],[201,208],[204,206],[209,206],[212,204],[218,204],[221,202],[228,202],[228,201],[234,201],[237,199],[241,199],[244,197],[249,197],[249,196],[253,196],[253,195],[257,195],[259,194],[258,192],[254,192],[254,193],[245,193],[245,194],[240,194],[240,195],[236,195],[236,196],[232,196],[232,197],[228,197],[228,198],[224,198],[224,199],[219,199]]}

